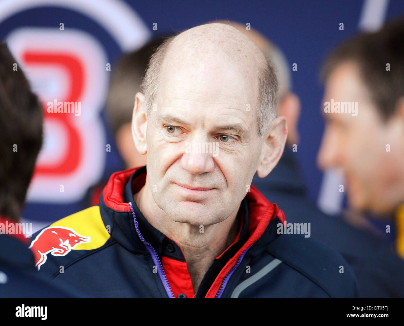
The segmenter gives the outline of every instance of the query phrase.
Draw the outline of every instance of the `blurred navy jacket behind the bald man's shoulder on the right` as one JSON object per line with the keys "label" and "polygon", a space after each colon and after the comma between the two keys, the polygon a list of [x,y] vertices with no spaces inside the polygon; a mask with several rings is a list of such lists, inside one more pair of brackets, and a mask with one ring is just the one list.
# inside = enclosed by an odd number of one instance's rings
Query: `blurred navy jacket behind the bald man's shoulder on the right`
{"label": "blurred navy jacket behind the bald man's shoulder on the right", "polygon": [[266,177],[252,184],[285,213],[287,222],[311,223],[311,237],[337,249],[352,267],[363,297],[404,297],[404,261],[372,234],[357,230],[342,217],[322,213],[306,196],[291,149]]}

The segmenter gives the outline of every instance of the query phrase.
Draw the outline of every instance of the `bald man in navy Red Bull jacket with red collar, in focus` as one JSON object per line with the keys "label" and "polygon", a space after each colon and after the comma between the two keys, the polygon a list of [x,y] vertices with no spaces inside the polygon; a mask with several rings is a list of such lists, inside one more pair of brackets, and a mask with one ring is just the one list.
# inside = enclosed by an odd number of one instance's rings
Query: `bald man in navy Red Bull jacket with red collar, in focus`
{"label": "bald man in navy Red Bull jacket with red collar, in focus", "polygon": [[186,30],[154,53],[142,90],[132,134],[147,165],[34,235],[40,273],[95,297],[358,296],[345,260],[250,185],[287,136],[255,43],[220,23]]}

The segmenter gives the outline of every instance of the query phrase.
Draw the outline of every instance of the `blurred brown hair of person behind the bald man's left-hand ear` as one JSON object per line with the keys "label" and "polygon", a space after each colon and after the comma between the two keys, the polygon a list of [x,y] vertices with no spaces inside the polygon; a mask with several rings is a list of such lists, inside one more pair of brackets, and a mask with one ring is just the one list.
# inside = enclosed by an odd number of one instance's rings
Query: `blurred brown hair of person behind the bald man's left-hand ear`
{"label": "blurred brown hair of person behind the bald man's left-hand ear", "polygon": [[106,111],[114,134],[132,121],[135,95],[141,92],[140,84],[151,54],[163,40],[164,36],[156,37],[140,49],[125,53],[113,66]]}

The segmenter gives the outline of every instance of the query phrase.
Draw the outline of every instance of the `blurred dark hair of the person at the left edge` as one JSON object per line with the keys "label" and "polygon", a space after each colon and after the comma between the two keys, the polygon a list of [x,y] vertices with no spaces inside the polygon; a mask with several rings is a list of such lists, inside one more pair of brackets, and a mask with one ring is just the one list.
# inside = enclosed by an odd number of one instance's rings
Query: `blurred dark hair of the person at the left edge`
{"label": "blurred dark hair of the person at the left edge", "polygon": [[18,220],[42,146],[43,113],[15,64],[7,46],[0,43],[0,215]]}

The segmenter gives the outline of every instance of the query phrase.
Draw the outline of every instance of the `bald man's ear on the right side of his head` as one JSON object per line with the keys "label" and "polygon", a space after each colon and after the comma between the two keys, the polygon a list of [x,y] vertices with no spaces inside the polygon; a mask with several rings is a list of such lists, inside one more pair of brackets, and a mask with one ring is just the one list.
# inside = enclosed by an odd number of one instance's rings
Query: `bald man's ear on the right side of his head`
{"label": "bald man's ear on the right side of his head", "polygon": [[262,142],[261,157],[257,166],[257,175],[265,178],[278,164],[285,148],[288,136],[286,117],[280,116],[272,121],[265,132]]}

